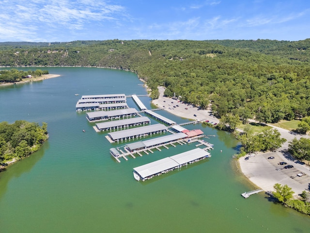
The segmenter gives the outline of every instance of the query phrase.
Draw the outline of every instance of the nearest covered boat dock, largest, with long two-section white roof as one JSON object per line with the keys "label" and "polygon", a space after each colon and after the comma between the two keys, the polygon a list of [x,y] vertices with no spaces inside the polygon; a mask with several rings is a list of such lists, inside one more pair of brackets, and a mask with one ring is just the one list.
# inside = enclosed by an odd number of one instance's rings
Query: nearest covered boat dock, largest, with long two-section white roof
{"label": "nearest covered boat dock, largest, with long two-section white roof", "polygon": [[210,157],[210,153],[200,148],[189,150],[171,157],[157,160],[155,162],[145,164],[133,168],[140,180],[145,181],[153,178],[154,176],[167,173],[176,168],[186,166],[190,163],[198,162],[202,159]]}

